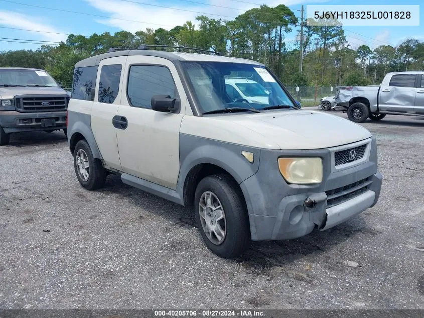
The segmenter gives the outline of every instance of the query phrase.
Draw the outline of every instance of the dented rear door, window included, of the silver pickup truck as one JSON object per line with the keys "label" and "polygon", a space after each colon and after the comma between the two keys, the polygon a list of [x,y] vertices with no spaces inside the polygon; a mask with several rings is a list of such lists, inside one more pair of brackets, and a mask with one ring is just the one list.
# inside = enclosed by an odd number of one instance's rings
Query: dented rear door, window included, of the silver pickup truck
{"label": "dented rear door, window included, of the silver pickup truck", "polygon": [[380,88],[379,109],[383,112],[413,113],[417,74],[394,74]]}

